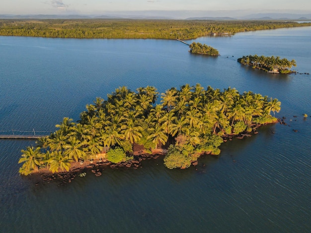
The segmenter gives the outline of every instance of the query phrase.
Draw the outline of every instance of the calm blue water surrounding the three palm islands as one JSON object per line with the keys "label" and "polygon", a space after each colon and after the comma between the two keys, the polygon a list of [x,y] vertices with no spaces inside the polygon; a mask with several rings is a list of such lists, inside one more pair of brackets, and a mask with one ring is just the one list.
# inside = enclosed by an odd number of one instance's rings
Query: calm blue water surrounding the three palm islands
{"label": "calm blue water surrounding the three palm islands", "polygon": [[194,41],[222,56],[195,56],[168,40],[0,37],[1,131],[54,131],[122,85],[163,92],[185,83],[277,98],[276,116],[290,125],[224,143],[198,171],[171,171],[159,158],[66,186],[19,176],[20,150],[34,142],[0,140],[0,232],[310,232],[311,117],[302,115],[311,116],[311,75],[267,74],[236,59],[280,56],[311,73],[311,27]]}

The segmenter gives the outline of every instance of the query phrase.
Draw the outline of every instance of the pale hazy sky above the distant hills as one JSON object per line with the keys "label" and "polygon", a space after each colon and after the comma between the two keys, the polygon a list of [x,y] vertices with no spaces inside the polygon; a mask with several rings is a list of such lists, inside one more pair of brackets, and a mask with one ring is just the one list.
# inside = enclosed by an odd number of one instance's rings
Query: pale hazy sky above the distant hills
{"label": "pale hazy sky above the distant hills", "polygon": [[[311,13],[311,0],[1,0],[0,14],[172,17],[235,16],[259,12]],[[173,14],[173,15],[172,15]],[[209,14],[209,15],[206,15]]]}

